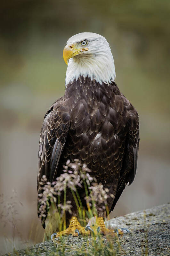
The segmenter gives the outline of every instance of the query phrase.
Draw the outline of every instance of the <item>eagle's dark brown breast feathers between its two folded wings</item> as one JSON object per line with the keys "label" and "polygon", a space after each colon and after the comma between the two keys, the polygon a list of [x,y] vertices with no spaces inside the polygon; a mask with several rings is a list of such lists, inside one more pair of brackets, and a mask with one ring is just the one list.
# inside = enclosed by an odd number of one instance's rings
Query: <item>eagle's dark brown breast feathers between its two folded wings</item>
{"label": "eagle's dark brown breast feathers between its two folded wings", "polygon": [[85,162],[107,185],[118,180],[125,149],[125,113],[116,85],[81,79],[68,85],[70,129],[64,158]]}

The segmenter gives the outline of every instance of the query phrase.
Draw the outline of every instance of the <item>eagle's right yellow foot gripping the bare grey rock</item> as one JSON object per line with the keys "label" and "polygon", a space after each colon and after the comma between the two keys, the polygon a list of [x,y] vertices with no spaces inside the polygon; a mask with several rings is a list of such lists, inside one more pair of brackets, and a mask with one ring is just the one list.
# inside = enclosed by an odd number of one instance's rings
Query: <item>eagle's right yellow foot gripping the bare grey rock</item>
{"label": "eagle's right yellow foot gripping the bare grey rock", "polygon": [[116,236],[116,235],[123,235],[123,230],[126,230],[129,232],[127,228],[122,229],[109,229],[106,228],[104,224],[104,219],[102,217],[99,217],[96,219],[96,226],[97,226],[97,232],[101,233],[102,235],[110,235],[110,236]]}

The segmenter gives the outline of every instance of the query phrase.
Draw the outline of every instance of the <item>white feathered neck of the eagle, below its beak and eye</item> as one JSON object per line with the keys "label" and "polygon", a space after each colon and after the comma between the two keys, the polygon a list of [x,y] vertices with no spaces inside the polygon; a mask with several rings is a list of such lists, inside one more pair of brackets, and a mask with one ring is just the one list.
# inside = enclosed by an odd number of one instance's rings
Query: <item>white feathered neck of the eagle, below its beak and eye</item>
{"label": "white feathered neck of the eagle, below its beak and eye", "polygon": [[115,65],[110,48],[95,55],[80,54],[69,60],[65,85],[73,83],[80,76],[89,77],[98,83],[110,84],[115,81]]}

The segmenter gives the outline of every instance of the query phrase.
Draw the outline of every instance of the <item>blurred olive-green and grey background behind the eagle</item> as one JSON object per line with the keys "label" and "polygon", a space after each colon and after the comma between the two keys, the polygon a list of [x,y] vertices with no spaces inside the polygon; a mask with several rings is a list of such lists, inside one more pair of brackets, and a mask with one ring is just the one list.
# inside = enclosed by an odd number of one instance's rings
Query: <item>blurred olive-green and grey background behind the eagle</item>
{"label": "blurred olive-green and grey background behind the eagle", "polygon": [[[62,50],[79,32],[107,38],[116,83],[140,116],[137,175],[111,217],[167,203],[170,1],[7,0],[1,1],[0,14],[1,252],[42,240],[36,212],[39,133],[45,112],[64,94]],[[4,207],[13,200],[13,208]],[[11,214],[14,208],[18,214]]]}

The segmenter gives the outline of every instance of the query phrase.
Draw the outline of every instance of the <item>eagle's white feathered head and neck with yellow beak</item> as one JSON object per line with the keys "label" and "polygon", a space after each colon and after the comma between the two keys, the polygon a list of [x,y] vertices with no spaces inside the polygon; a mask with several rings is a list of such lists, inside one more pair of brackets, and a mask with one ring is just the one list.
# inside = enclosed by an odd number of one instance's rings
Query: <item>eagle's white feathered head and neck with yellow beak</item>
{"label": "eagle's white feathered head and neck with yellow beak", "polygon": [[63,58],[68,65],[66,86],[80,76],[100,84],[115,81],[115,65],[109,43],[99,34],[84,32],[70,37],[64,47]]}

